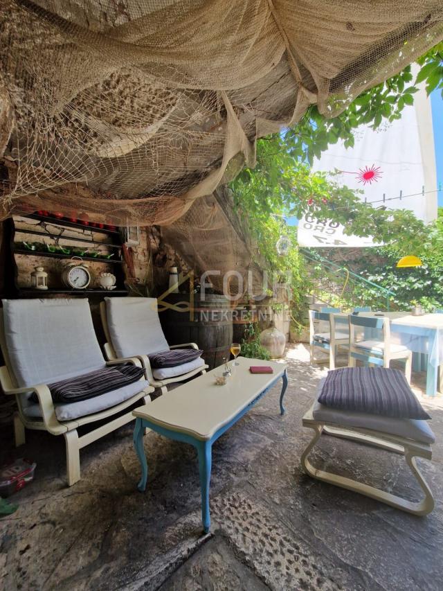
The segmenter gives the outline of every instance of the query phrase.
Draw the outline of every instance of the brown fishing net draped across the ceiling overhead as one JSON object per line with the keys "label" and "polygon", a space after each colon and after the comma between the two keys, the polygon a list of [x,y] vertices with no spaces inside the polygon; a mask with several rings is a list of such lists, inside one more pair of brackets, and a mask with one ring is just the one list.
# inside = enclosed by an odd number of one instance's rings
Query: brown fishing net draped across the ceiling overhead
{"label": "brown fishing net draped across the ceiling overhead", "polygon": [[170,224],[442,38],[441,0],[1,0],[1,216]]}

